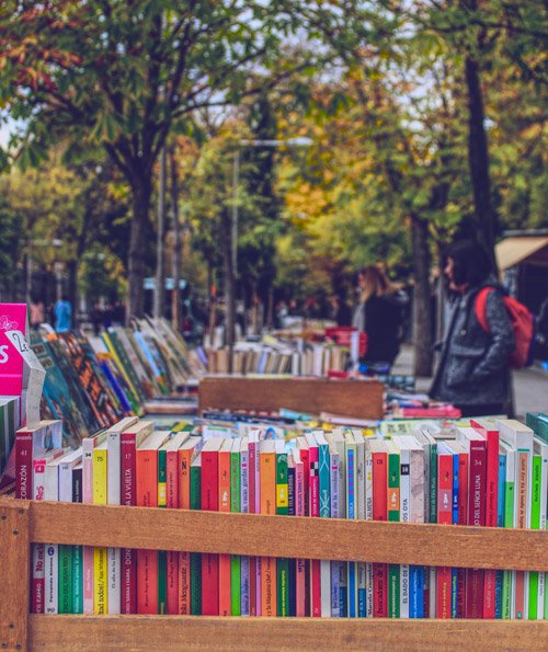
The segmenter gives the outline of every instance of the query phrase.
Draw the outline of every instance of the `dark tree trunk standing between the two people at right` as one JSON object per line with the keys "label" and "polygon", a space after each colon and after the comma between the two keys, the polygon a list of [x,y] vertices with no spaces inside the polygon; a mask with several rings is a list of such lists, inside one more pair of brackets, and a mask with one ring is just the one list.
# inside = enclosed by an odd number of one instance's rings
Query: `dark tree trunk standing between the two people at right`
{"label": "dark tree trunk standing between the two people at right", "polygon": [[430,297],[429,224],[411,215],[413,249],[413,339],[414,375],[432,375],[432,302]]}

